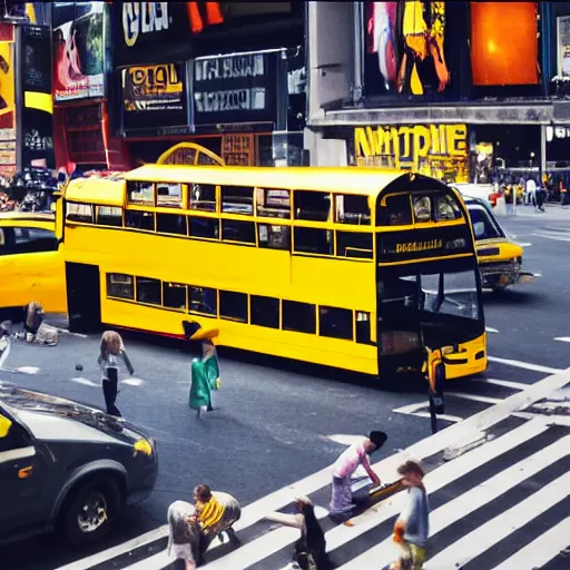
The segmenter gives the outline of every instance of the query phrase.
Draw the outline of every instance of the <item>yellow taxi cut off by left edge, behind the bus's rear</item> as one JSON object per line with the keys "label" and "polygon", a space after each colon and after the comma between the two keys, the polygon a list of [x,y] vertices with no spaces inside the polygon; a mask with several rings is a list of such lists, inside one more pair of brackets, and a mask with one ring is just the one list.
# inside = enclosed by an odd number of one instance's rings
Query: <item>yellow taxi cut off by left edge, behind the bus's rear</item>
{"label": "yellow taxi cut off by left edge, behind the bus's rear", "polygon": [[58,249],[53,213],[0,214],[0,313],[3,318],[21,316],[21,309],[30,301],[41,303],[46,312],[67,312],[65,265]]}

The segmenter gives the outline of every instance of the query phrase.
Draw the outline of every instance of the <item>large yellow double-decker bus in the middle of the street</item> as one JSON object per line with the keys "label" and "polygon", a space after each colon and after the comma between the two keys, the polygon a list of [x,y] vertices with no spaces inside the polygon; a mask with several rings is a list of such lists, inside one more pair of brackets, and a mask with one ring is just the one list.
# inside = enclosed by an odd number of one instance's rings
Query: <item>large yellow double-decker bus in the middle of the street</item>
{"label": "large yellow double-decker bus in the middle of the street", "polygon": [[58,208],[76,328],[184,335],[387,376],[443,348],[487,366],[481,283],[459,193],[396,170],[147,165],[78,179]]}

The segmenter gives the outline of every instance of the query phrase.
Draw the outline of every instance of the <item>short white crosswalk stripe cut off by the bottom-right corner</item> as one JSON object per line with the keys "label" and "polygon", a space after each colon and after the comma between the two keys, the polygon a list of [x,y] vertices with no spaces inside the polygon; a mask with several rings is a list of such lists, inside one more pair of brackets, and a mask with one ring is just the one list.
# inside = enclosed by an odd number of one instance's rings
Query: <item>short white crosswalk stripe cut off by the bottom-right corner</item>
{"label": "short white crosswalk stripe cut off by the bottom-right corner", "polygon": [[529,544],[504,562],[501,562],[493,570],[541,568],[556,558],[560,550],[567,548],[569,540],[570,517],[549,529],[532,542],[529,542]]}

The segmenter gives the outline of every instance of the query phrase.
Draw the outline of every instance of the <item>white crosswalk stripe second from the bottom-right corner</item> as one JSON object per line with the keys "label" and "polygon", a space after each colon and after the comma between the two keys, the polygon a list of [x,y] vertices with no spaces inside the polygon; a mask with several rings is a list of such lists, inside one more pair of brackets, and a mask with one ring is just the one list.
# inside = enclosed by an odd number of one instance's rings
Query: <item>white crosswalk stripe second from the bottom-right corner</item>
{"label": "white crosswalk stripe second from the bottom-right corner", "polygon": [[[462,564],[475,558],[480,552],[484,552],[493,544],[504,540],[517,529],[520,529],[540,513],[562,501],[567,494],[561,492],[561,490],[568,489],[569,484],[570,473],[566,473],[519,504],[502,512],[499,517],[487,521],[469,534],[464,534],[460,540],[431,560],[430,570],[461,568]],[[527,568],[529,567],[527,566]]]}

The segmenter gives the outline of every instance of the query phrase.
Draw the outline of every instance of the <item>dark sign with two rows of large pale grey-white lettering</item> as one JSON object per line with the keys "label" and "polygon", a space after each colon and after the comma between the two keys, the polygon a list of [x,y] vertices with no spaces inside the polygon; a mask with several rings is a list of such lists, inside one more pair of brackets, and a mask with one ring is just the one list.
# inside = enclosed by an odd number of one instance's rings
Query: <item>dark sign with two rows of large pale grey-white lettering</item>
{"label": "dark sign with two rows of large pale grey-white lettering", "polygon": [[194,124],[278,122],[281,75],[281,51],[196,59]]}

